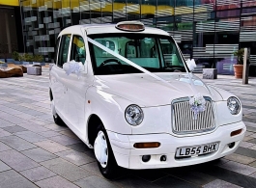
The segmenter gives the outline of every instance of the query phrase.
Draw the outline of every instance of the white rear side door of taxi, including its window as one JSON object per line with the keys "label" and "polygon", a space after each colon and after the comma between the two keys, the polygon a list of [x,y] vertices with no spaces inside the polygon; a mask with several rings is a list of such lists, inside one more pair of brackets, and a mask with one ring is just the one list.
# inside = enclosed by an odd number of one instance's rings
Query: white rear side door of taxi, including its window
{"label": "white rear side door of taxi, including its window", "polygon": [[55,109],[58,115],[65,120],[68,113],[68,94],[66,87],[66,72],[63,69],[63,65],[68,62],[69,48],[70,48],[71,35],[63,35],[61,38],[59,53],[56,66],[52,67],[52,93],[54,99]]}

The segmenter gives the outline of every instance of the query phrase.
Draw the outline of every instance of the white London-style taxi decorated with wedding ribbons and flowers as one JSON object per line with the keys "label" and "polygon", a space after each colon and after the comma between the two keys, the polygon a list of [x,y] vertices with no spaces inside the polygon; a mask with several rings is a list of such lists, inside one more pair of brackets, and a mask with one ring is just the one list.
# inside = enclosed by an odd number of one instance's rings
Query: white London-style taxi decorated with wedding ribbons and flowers
{"label": "white London-style taxi decorated with wedding ribbons and flowers", "polygon": [[76,25],[50,68],[53,119],[94,148],[100,172],[194,165],[234,152],[246,131],[234,94],[193,75],[168,33],[138,21]]}

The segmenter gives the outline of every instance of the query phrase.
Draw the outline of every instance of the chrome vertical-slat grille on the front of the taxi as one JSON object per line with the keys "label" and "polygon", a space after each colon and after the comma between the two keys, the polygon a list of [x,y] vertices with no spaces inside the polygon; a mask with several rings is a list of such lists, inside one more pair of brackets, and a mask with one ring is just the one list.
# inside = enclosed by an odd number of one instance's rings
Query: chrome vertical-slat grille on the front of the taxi
{"label": "chrome vertical-slat grille on the front of the taxi", "polygon": [[210,97],[206,99],[206,110],[197,115],[190,110],[189,98],[179,98],[172,101],[172,125],[176,134],[190,134],[213,130],[215,127],[213,116],[213,102]]}

